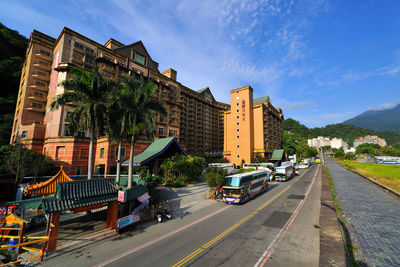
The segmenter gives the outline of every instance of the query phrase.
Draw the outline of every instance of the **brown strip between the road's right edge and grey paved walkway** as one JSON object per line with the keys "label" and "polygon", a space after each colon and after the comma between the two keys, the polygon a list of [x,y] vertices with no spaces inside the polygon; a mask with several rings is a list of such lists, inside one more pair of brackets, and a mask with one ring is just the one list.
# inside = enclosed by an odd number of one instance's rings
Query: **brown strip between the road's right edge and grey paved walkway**
{"label": "brown strip between the road's right edge and grey paved walkway", "polygon": [[348,256],[343,232],[333,202],[328,175],[321,173],[321,211],[319,266],[348,266]]}

